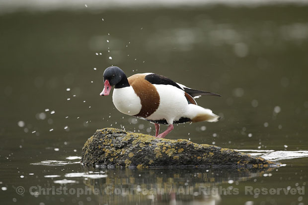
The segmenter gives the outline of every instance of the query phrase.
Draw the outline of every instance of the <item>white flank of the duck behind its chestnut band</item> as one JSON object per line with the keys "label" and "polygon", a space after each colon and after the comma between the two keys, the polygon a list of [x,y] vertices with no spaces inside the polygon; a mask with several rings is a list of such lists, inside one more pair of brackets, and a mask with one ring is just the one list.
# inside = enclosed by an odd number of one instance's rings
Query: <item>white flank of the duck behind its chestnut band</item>
{"label": "white flank of the duck behind its chestnut band", "polygon": [[159,94],[159,106],[157,110],[147,117],[149,120],[165,119],[169,124],[185,117],[188,103],[184,91],[173,85],[154,84]]}

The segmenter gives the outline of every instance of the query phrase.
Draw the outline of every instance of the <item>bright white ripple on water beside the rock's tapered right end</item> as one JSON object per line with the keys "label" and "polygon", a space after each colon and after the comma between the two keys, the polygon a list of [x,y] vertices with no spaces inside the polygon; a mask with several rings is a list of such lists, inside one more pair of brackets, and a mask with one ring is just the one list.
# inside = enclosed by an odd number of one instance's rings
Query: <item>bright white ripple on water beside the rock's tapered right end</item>
{"label": "bright white ripple on water beside the rock's tapered right end", "polygon": [[284,159],[295,159],[295,158],[302,158],[308,157],[307,150],[300,150],[300,151],[275,151],[275,150],[255,150],[255,149],[241,149],[237,150],[241,152],[248,152],[253,156],[260,156],[264,159],[271,160],[271,161],[279,161]]}

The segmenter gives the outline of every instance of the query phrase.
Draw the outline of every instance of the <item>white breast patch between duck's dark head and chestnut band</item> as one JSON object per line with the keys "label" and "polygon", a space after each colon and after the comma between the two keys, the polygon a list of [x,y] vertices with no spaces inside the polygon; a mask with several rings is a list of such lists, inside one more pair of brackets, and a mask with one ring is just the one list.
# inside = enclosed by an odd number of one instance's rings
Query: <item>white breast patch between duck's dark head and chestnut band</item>
{"label": "white breast patch between duck's dark head and chestnut band", "polygon": [[141,100],[132,86],[115,88],[112,94],[114,106],[126,115],[137,115],[141,110]]}

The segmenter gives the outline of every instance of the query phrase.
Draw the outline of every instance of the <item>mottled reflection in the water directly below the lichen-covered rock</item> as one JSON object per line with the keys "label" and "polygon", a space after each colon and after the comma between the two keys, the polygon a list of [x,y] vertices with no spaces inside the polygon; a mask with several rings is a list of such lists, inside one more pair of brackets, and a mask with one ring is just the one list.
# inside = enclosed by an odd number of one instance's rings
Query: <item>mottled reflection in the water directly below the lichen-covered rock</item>
{"label": "mottled reflection in the water directly below the lichen-covered rock", "polygon": [[272,169],[157,168],[104,171],[106,178],[84,180],[86,186],[98,192],[99,203],[103,205],[215,205],[219,204],[222,195],[239,194],[239,190],[232,185],[261,176]]}

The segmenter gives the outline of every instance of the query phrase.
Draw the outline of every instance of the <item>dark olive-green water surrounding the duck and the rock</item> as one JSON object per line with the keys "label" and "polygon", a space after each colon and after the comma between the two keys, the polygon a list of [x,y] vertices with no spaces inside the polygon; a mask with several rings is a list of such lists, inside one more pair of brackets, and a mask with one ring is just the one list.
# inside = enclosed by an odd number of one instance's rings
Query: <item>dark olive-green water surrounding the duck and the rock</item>
{"label": "dark olive-green water surrounding the duck and the rock", "polygon": [[[87,5],[0,15],[1,203],[307,204],[301,190],[308,173],[308,6],[91,12]],[[285,166],[82,167],[82,146],[96,129],[154,135],[152,124],[122,115],[111,96],[99,96],[111,65],[128,76],[155,72],[222,95],[197,99],[220,122],[175,126],[168,138],[215,143]],[[262,188],[289,192],[256,194]]]}

